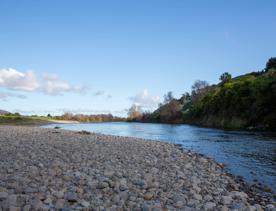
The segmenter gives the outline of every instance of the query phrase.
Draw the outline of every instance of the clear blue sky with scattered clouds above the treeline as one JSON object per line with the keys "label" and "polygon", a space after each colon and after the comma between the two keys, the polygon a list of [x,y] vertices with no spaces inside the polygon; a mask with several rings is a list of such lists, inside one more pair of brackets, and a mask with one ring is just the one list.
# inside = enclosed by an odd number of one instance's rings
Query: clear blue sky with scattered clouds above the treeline
{"label": "clear blue sky with scattered clouds above the treeline", "polygon": [[274,0],[1,0],[0,109],[125,116],[163,95],[262,70]]}

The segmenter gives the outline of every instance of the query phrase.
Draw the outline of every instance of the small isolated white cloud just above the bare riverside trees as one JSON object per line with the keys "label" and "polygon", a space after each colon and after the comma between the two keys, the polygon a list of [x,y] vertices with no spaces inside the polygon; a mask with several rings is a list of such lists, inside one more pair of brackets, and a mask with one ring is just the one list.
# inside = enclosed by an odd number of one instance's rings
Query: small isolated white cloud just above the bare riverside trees
{"label": "small isolated white cloud just above the bare riverside trees", "polygon": [[149,94],[149,91],[145,89],[134,97],[131,97],[130,100],[141,107],[153,108],[160,102],[160,97]]}

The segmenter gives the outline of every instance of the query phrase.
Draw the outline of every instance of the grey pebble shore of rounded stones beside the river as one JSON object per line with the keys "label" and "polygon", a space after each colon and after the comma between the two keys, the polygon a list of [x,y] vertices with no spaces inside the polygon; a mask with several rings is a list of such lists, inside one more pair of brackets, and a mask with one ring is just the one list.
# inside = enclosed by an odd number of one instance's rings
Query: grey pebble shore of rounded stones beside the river
{"label": "grey pebble shore of rounded stones beside the river", "polygon": [[214,161],[179,146],[0,126],[0,211],[276,210]]}

